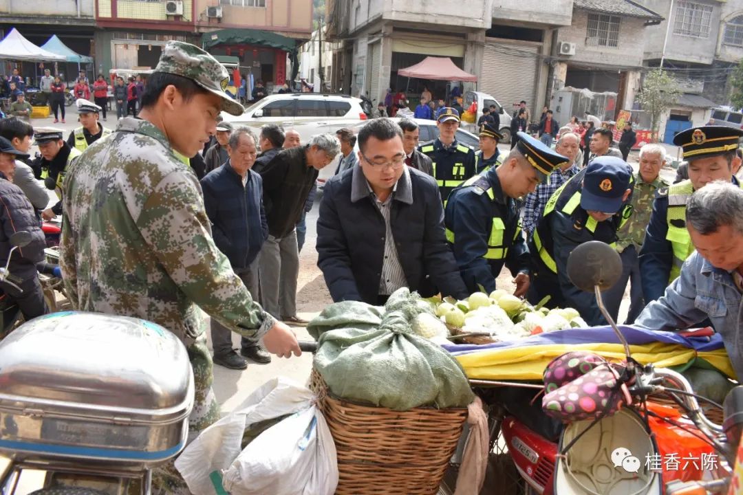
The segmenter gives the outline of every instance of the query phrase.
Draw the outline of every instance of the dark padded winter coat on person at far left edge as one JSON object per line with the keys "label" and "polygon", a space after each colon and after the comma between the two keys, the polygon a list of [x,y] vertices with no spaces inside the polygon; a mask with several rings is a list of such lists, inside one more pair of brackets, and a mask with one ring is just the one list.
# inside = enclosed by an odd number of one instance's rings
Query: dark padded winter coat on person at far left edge
{"label": "dark padded winter coat on person at far left edge", "polygon": [[[31,242],[13,252],[8,271],[23,280],[38,276],[36,263],[44,260],[46,240],[39,225],[39,218],[21,188],[8,182],[0,174],[0,263],[5,266],[10,252],[10,236],[25,230]],[[1,289],[1,286],[0,286]]]}

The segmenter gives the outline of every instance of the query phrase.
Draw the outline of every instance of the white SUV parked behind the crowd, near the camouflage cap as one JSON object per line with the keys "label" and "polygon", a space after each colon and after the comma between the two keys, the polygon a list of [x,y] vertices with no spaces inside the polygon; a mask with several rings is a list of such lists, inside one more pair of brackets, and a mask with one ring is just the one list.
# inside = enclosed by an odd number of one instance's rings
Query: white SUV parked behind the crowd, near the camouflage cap
{"label": "white SUV parked behind the crowd, near the camouflage cap", "polygon": [[247,125],[256,130],[265,124],[278,124],[285,130],[293,128],[302,142],[307,142],[315,134],[334,134],[340,128],[366,120],[361,103],[361,99],[345,94],[271,94],[242,115],[223,112],[222,117],[232,125]]}

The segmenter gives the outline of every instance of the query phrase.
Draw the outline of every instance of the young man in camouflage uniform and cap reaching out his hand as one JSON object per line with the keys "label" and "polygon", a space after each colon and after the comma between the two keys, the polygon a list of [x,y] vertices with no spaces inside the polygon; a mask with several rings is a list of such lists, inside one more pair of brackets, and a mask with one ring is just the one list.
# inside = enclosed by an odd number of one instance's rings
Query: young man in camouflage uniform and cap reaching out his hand
{"label": "young man in camouflage uniform and cap reaching out his hand", "polygon": [[[227,80],[204,50],[169,42],[149,78],[140,119],[121,119],[111,137],[91,144],[64,186],[60,265],[72,306],[144,318],[181,338],[195,378],[191,439],[219,416],[197,306],[230,330],[262,337],[271,353],[301,353],[291,330],[253,302],[216,248],[188,165],[215,133],[221,110],[243,112],[224,93]],[[187,493],[172,465],[163,471],[170,472],[158,473],[155,493]]]}

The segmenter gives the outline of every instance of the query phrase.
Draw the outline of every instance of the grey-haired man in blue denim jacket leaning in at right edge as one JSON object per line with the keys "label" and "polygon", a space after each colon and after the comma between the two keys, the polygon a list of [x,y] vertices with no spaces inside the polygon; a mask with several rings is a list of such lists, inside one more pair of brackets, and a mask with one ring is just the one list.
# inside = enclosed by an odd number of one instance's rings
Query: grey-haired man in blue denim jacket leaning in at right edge
{"label": "grey-haired man in blue denim jacket leaning in at right edge", "polygon": [[649,330],[694,327],[710,318],[743,378],[743,190],[716,181],[695,191],[686,223],[696,249],[681,275],[635,321]]}

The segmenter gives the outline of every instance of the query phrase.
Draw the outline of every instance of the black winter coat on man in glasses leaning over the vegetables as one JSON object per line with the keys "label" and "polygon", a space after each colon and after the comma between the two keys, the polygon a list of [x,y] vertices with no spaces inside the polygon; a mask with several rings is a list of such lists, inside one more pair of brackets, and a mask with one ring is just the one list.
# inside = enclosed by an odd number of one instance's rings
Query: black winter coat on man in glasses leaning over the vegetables
{"label": "black winter coat on man in glasses leaning over the vegetables", "polygon": [[[404,175],[398,181],[390,223],[407,286],[423,297],[441,291],[442,295],[465,298],[467,289],[444,235],[444,209],[438,186],[429,175],[406,169],[408,183],[403,186]],[[336,302],[377,304],[386,226],[366,188],[363,171],[354,167],[328,180],[322,194],[317,220],[317,266]],[[353,198],[352,189],[356,191]]]}

